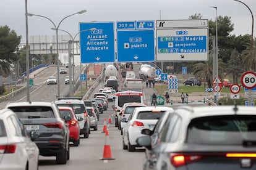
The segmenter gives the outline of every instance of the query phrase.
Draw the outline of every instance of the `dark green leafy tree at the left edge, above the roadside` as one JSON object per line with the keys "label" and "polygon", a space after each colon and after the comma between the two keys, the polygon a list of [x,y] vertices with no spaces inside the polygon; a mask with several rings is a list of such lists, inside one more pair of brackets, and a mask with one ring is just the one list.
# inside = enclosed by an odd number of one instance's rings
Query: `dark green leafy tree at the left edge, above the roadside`
{"label": "dark green leafy tree at the left edge, above the roadside", "polygon": [[17,36],[14,30],[6,26],[0,26],[0,71],[1,75],[8,75],[11,63],[18,59],[15,51],[20,44],[21,36]]}

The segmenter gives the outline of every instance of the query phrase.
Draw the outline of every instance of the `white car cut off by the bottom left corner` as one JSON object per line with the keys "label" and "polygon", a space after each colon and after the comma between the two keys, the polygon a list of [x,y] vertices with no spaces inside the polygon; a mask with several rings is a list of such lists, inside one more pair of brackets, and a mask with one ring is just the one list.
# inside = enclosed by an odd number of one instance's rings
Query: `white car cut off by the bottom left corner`
{"label": "white car cut off by the bottom left corner", "polygon": [[0,169],[38,169],[39,149],[32,140],[39,133],[27,131],[17,115],[9,110],[0,111]]}

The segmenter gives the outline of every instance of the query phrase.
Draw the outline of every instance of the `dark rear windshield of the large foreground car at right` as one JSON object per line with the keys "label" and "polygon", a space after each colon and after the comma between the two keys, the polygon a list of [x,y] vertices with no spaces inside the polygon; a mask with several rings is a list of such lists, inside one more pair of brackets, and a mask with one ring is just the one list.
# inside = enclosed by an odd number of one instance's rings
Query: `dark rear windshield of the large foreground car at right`
{"label": "dark rear windshield of the large foreground car at right", "polygon": [[256,141],[256,116],[196,118],[187,131],[190,144],[241,145],[246,141]]}

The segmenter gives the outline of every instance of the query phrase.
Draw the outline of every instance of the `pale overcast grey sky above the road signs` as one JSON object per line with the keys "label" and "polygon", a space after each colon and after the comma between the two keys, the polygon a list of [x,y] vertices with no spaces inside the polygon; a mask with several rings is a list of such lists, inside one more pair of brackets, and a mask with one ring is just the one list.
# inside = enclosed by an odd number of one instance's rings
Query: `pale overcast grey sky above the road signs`
{"label": "pale overcast grey sky above the road signs", "polygon": [[[249,6],[256,18],[256,1],[240,0]],[[116,22],[139,20],[186,20],[190,15],[201,14],[203,19],[215,20],[217,15],[231,17],[236,36],[252,33],[252,15],[244,4],[234,0],[27,0],[28,13],[50,18],[55,25],[67,15],[86,9],[87,12],[68,17],[59,29],[73,36],[79,33],[81,22]],[[212,7],[217,7],[217,10]],[[254,20],[254,23],[255,20]],[[7,25],[22,43],[26,39],[25,0],[0,1],[0,26]],[[28,36],[49,35],[53,23],[41,17],[28,17]],[[254,24],[254,37],[256,26]]]}

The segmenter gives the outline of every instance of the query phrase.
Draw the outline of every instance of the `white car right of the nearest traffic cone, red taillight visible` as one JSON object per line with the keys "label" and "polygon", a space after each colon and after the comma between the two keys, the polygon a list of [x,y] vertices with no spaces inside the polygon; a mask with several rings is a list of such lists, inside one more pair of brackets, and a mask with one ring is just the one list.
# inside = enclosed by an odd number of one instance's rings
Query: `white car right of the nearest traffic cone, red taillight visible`
{"label": "white car right of the nearest traffic cone, red taillight visible", "polygon": [[122,148],[134,152],[135,147],[140,147],[136,140],[145,136],[141,134],[142,129],[152,130],[165,111],[174,110],[171,107],[137,107],[128,119],[122,118],[121,122],[126,122],[122,128]]}

